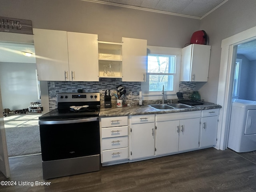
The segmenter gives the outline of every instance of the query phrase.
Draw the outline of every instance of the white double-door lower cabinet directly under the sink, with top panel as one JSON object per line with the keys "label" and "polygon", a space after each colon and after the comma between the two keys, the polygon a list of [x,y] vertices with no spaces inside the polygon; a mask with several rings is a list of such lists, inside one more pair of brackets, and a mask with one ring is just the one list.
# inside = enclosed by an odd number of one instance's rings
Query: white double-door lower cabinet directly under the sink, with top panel
{"label": "white double-door lower cabinet directly under the sink, with top panel", "polygon": [[201,111],[156,114],[156,155],[198,148]]}

